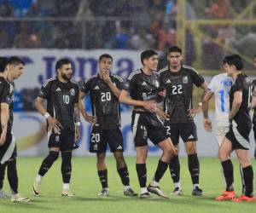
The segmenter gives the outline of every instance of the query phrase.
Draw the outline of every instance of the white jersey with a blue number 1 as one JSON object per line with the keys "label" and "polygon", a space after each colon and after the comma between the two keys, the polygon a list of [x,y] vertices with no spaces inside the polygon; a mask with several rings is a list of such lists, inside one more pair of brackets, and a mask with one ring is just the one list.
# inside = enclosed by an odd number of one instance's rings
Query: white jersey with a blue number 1
{"label": "white jersey with a blue number 1", "polygon": [[214,76],[208,85],[208,91],[215,95],[215,118],[216,122],[229,123],[230,112],[230,88],[233,79],[226,73]]}

